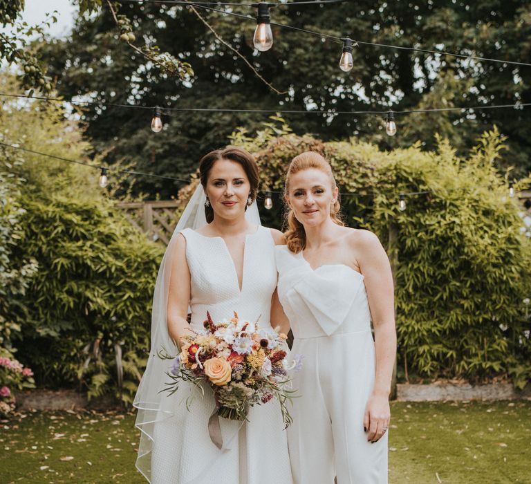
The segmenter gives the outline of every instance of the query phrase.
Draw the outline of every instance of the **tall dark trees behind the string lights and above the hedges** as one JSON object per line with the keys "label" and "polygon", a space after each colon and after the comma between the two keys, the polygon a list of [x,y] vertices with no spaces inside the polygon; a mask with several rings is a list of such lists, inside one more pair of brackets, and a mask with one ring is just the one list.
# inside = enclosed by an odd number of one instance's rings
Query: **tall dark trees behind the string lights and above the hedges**
{"label": "tall dark trees behind the string lights and above the hedges", "polygon": [[[295,2],[296,3],[296,2]],[[253,14],[248,8],[234,11]],[[430,109],[529,102],[530,68],[472,61],[444,55],[393,50],[359,44],[354,69],[339,71],[341,45],[304,32],[274,27],[274,46],[266,53],[252,47],[250,21],[187,6],[127,4],[122,7],[138,38],[161,50],[178,52],[194,67],[187,82],[160,75],[149,62],[119,48],[109,10],[79,19],[71,39],[46,48],[57,90],[66,99],[87,93],[96,102],[118,102],[218,109],[336,109],[337,111]],[[199,16],[203,17],[200,19]],[[454,0],[357,1],[337,5],[301,5],[272,10],[274,21],[335,36],[398,46],[421,46],[465,55],[526,62],[531,38],[531,6],[527,2]],[[205,25],[232,45],[271,82],[278,95],[260,80],[241,57]],[[140,66],[138,63],[140,62]],[[253,130],[268,114],[172,113],[167,129],[149,131],[151,113],[89,106],[84,119],[96,153],[130,160],[139,169],[186,178],[209,149],[225,144],[236,126]],[[316,133],[324,140],[358,139],[382,149],[407,147],[420,140],[423,149],[436,146],[435,133],[449,138],[465,154],[485,129],[496,124],[508,137],[507,151],[496,163],[514,176],[531,168],[530,123],[519,109],[456,111],[397,116],[398,135],[384,134],[379,115],[285,116],[299,134]],[[176,194],[178,186],[155,181],[141,185],[154,196]]]}

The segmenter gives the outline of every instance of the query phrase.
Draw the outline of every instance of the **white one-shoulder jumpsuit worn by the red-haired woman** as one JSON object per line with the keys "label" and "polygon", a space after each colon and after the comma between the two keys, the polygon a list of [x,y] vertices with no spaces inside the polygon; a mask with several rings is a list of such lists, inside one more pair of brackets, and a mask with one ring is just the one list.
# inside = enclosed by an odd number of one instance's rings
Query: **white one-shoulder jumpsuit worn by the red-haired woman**
{"label": "white one-shoulder jumpsuit worn by the red-haired woman", "polygon": [[293,377],[288,446],[296,484],[387,483],[388,433],[366,439],[365,405],[375,378],[371,313],[363,276],[343,264],[316,270],[276,248],[279,299],[304,365]]}

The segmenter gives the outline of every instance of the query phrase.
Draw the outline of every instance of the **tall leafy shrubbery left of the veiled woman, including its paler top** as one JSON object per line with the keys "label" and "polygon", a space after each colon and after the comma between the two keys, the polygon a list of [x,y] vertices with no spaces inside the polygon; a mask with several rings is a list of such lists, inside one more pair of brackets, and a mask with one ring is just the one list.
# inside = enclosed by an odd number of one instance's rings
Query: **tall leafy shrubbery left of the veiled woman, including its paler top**
{"label": "tall leafy shrubbery left of the veiled woman, including its paler top", "polygon": [[[11,88],[9,79],[2,82]],[[0,121],[9,126],[2,142],[77,160],[90,151],[57,106],[6,103]],[[26,293],[0,313],[19,315],[12,337],[18,359],[40,385],[77,385],[89,397],[113,393],[130,402],[146,362],[163,249],[113,207],[96,169],[1,151],[2,171],[24,180],[13,196],[23,210],[16,212],[10,260],[14,268],[38,266]]]}

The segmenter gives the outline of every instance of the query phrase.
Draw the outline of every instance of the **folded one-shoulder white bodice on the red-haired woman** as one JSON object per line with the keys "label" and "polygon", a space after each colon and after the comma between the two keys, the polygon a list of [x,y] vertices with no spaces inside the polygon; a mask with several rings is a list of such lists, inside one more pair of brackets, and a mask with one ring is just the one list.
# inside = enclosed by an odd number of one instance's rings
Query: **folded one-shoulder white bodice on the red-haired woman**
{"label": "folded one-shoulder white bodice on the red-haired woman", "polygon": [[344,264],[316,269],[301,252],[276,248],[279,299],[295,338],[313,338],[371,330],[371,312],[363,275]]}

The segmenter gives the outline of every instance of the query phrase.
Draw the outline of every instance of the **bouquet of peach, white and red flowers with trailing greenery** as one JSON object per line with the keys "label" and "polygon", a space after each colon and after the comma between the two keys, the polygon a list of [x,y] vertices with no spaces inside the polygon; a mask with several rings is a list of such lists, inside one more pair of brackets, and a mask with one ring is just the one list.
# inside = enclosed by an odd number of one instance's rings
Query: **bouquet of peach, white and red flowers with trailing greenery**
{"label": "bouquet of peach, white and red flowers with trailing greenery", "polygon": [[207,313],[205,331],[181,338],[176,358],[159,352],[174,359],[165,391],[175,393],[182,381],[203,390],[201,383],[206,382],[214,391],[218,416],[230,420],[245,420],[250,407],[277,398],[288,427],[292,418],[287,402],[295,397],[288,371],[298,371],[300,357],[288,364],[285,340],[286,335],[241,321],[236,313],[219,323]]}

